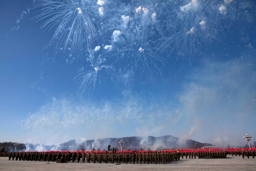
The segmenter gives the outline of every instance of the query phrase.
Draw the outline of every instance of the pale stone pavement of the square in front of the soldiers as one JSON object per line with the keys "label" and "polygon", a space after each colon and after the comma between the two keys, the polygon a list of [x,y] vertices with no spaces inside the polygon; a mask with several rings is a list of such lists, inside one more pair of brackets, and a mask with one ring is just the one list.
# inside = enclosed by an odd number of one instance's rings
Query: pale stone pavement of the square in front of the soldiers
{"label": "pale stone pavement of the square in front of the soldiers", "polygon": [[121,164],[116,165],[112,163],[56,163],[40,161],[9,161],[7,157],[0,157],[0,171],[69,171],[69,170],[110,170],[110,171],[126,171],[126,170],[154,170],[154,171],[170,171],[170,170],[182,170],[182,171],[237,171],[237,170],[256,170],[256,158],[243,159],[241,157],[228,156],[227,159],[181,159],[169,164]]}

